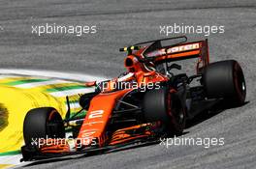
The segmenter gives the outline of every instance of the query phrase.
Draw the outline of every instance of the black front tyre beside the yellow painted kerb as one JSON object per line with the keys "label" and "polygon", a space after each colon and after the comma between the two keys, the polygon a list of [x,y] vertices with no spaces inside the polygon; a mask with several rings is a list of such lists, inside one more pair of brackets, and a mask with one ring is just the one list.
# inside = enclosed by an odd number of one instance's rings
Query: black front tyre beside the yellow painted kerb
{"label": "black front tyre beside the yellow painted kerb", "polygon": [[36,142],[41,138],[64,138],[65,129],[60,114],[52,107],[30,110],[24,119],[23,137],[27,146],[37,146]]}

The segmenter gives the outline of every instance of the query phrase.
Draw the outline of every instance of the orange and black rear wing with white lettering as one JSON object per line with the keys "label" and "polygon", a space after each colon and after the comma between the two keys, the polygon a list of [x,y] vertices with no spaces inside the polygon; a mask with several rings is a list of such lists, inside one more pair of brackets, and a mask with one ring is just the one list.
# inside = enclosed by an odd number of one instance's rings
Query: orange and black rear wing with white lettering
{"label": "orange and black rear wing with white lettering", "polygon": [[[198,58],[196,69],[199,72],[209,63],[208,39],[200,42],[179,42],[174,45],[158,48],[156,42],[147,46],[142,53],[145,58],[156,57],[154,64]],[[160,45],[161,46],[161,45]],[[153,49],[154,48],[154,49]]]}

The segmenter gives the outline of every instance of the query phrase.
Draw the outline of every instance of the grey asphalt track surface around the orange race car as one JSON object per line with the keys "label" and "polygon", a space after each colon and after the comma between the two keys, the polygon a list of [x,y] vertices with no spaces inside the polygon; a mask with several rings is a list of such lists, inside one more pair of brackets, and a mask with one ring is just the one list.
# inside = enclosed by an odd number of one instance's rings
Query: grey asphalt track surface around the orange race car
{"label": "grey asphalt track surface around the orange race car", "polygon": [[[94,24],[83,37],[31,34],[31,25]],[[76,71],[114,76],[123,71],[118,47],[164,38],[159,25],[224,25],[208,36],[210,60],[236,59],[244,70],[248,103],[215,113],[188,127],[184,137],[224,137],[224,146],[159,144],[105,155],[35,163],[26,168],[255,168],[256,2],[186,1],[0,1],[0,67]],[[172,36],[177,36],[173,34]],[[206,38],[187,35],[190,40]]]}

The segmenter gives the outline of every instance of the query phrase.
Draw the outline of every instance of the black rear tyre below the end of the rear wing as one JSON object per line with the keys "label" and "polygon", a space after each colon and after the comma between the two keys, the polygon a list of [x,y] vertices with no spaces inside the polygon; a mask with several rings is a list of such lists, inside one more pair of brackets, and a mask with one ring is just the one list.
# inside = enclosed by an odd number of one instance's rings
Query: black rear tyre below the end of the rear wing
{"label": "black rear tyre below the end of the rear wing", "polygon": [[215,62],[203,73],[208,99],[222,98],[228,105],[240,105],[246,97],[246,85],[240,64],[235,60]]}

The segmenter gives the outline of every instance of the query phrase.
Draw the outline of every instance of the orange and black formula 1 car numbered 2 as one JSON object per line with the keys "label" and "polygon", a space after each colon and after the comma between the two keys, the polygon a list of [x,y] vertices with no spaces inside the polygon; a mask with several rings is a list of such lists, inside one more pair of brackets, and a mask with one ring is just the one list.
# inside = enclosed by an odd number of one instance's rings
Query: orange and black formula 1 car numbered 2
{"label": "orange and black formula 1 car numbered 2", "polygon": [[[54,107],[42,107],[26,114],[21,160],[103,153],[154,142],[182,134],[187,120],[218,102],[244,103],[240,64],[235,60],[209,64],[208,40],[187,42],[186,37],[176,37],[120,51],[128,53],[127,72],[108,81],[86,82],[95,92],[80,96],[78,113],[71,116],[68,110],[62,119]],[[175,61],[191,58],[197,60],[195,74],[174,73],[181,70]],[[81,111],[87,112],[84,117],[79,116]]]}

